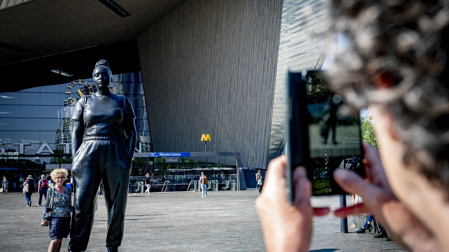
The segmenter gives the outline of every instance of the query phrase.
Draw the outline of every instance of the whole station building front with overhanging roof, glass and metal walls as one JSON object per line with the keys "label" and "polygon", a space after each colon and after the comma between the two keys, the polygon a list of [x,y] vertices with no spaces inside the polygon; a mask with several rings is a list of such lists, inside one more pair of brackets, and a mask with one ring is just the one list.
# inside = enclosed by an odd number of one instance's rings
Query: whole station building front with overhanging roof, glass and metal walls
{"label": "whole station building front with overhanging roof, glass and metal walls", "polygon": [[287,68],[318,70],[326,55],[324,0],[0,2],[0,171],[6,156],[70,163],[73,101],[94,89],[99,59],[132,101],[139,151],[200,152],[209,134],[208,151],[266,169],[285,144]]}

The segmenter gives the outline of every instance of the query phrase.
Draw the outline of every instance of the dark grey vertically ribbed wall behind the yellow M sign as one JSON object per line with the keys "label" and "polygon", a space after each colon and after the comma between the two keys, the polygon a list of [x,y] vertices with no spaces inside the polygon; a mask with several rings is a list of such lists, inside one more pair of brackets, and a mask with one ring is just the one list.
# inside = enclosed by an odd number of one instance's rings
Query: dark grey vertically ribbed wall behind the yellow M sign
{"label": "dark grey vertically ribbed wall behind the yellow M sign", "polygon": [[[186,0],[137,37],[154,152],[265,168],[282,0]],[[197,160],[235,165],[235,158]]]}

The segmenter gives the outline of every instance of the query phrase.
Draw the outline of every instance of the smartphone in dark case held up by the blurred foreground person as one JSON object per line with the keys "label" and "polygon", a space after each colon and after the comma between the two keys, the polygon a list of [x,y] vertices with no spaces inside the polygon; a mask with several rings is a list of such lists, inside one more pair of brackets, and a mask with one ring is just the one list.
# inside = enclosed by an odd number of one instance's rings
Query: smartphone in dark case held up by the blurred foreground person
{"label": "smartphone in dark case held up by the blurred foreground person", "polygon": [[335,169],[351,169],[365,178],[360,111],[351,112],[331,91],[322,71],[288,73],[287,190],[294,199],[294,169],[302,165],[313,196],[347,194],[335,182]]}

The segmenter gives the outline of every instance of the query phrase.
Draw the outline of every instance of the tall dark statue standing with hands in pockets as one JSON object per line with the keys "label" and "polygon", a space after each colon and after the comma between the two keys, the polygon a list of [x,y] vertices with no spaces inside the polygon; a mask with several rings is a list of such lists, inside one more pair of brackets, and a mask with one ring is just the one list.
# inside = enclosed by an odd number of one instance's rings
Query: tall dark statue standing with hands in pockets
{"label": "tall dark statue standing with hands in pockets", "polygon": [[108,251],[118,251],[123,239],[131,159],[136,146],[136,116],[128,98],[111,93],[112,72],[107,61],[97,62],[92,77],[97,92],[81,97],[72,116],[75,196],[68,250],[86,250],[94,202],[103,180],[108,213],[106,247]]}

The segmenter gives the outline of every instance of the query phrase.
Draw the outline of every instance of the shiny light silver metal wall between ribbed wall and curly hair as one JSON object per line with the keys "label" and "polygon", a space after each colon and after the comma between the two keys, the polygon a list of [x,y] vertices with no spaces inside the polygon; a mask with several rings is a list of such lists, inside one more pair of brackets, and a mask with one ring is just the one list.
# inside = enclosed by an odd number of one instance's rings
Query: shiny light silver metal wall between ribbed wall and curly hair
{"label": "shiny light silver metal wall between ribbed wall and curly hair", "polygon": [[321,69],[325,58],[327,14],[326,0],[284,0],[268,162],[284,150],[287,69]]}

